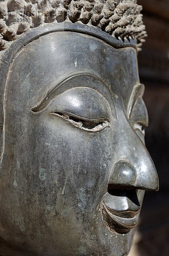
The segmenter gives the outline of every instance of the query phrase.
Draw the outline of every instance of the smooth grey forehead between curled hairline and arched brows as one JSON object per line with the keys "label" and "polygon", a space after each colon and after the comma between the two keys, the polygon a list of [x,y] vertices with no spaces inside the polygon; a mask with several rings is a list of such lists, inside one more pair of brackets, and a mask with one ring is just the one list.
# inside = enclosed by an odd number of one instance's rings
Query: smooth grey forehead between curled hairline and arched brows
{"label": "smooth grey forehead between curled hairline and arched brows", "polygon": [[31,108],[60,81],[83,72],[98,76],[127,108],[139,80],[135,49],[114,49],[100,39],[75,32],[49,33],[18,53],[9,72],[8,88],[15,97],[22,94]]}

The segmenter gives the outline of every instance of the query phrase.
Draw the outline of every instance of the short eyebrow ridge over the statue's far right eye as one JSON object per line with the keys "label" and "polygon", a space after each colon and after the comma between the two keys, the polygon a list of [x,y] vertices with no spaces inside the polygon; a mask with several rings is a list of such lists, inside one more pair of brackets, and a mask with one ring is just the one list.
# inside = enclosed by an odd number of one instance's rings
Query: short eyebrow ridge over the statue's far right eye
{"label": "short eyebrow ridge over the statue's far right eye", "polygon": [[128,106],[127,106],[128,119],[130,119],[130,114],[132,113],[132,109],[135,105],[136,100],[138,99],[139,96],[143,96],[143,94],[144,94],[144,84],[140,84],[140,83],[135,84],[130,96]]}

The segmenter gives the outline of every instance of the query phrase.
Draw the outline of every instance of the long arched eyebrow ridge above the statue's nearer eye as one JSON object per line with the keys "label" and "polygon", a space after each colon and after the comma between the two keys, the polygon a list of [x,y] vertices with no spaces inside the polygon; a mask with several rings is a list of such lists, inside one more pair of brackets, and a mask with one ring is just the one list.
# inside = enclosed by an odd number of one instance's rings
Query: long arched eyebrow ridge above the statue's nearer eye
{"label": "long arched eyebrow ridge above the statue's nearer eye", "polygon": [[[82,87],[82,83],[84,83],[85,87],[90,87],[87,84],[91,84],[92,80],[100,81],[102,85],[107,87],[107,85],[104,84],[104,82],[98,76],[93,75],[92,73],[78,73],[78,74],[69,76],[66,79],[59,82],[58,84],[56,84],[56,86],[54,86],[51,90],[49,90],[45,94],[45,97],[43,97],[43,99],[31,109],[31,111],[33,112],[43,111],[49,105],[49,103],[56,98],[56,96],[63,93],[67,88],[70,89],[70,82],[73,82],[72,87]],[[97,87],[94,89],[97,90]]]}

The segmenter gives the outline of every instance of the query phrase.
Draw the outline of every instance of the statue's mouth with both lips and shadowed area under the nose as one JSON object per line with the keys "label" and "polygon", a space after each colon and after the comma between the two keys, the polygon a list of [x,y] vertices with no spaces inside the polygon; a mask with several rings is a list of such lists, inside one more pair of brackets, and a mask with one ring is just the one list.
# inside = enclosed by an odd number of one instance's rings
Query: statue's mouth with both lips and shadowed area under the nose
{"label": "statue's mouth with both lips and shadowed area under the nose", "polygon": [[141,210],[139,201],[144,191],[136,189],[109,189],[102,201],[104,221],[118,233],[130,231],[138,224]]}

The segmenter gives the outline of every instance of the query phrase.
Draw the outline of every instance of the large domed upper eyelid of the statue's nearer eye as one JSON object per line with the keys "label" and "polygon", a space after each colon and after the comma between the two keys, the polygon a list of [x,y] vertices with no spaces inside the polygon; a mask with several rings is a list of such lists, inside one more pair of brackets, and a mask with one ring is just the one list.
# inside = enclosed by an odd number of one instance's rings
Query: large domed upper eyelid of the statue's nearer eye
{"label": "large domed upper eyelid of the statue's nearer eye", "polygon": [[64,114],[83,122],[99,123],[110,121],[111,111],[107,100],[92,88],[79,87],[58,95],[47,110]]}

